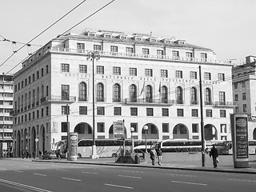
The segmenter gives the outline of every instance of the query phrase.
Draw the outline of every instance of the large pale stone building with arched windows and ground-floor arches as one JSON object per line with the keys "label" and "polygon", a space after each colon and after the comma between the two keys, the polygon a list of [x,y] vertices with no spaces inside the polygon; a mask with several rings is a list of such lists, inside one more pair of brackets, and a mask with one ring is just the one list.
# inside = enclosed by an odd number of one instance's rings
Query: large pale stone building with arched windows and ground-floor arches
{"label": "large pale stone building with arched windows and ground-floor arches", "polygon": [[[114,138],[123,121],[126,138],[200,139],[199,66],[206,140],[230,139],[231,68],[214,51],[151,34],[86,30],[46,43],[14,74],[14,153],[50,150],[70,132],[92,138],[94,60],[95,138]],[[67,106],[68,105],[68,106]],[[70,111],[67,116],[66,111]],[[38,138],[38,144],[35,142]],[[38,147],[38,148],[36,148]]]}

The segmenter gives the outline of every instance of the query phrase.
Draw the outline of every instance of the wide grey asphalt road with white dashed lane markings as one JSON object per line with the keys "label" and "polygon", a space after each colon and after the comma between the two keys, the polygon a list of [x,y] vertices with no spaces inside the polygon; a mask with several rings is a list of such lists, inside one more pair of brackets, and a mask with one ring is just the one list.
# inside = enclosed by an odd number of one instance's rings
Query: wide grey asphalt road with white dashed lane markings
{"label": "wide grey asphalt road with white dashed lane markings", "polygon": [[256,174],[0,160],[0,191],[255,191]]}

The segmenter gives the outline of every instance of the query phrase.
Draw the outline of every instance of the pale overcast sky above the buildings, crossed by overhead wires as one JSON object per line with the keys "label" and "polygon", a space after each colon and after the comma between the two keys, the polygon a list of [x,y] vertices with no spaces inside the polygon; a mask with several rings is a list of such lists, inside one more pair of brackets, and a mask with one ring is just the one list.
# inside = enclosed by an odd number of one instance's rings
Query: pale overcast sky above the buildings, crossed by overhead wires
{"label": "pale overcast sky above the buildings, crossed by overhead wires", "polygon": [[[1,0],[0,73],[14,74],[28,53],[37,50],[111,0],[86,0],[60,22],[46,30],[6,59],[82,0]],[[109,6],[74,28],[117,30],[153,36],[185,39],[186,42],[214,50],[217,59],[242,62],[256,55],[255,0],[114,0]],[[10,42],[2,41],[4,38]],[[5,63],[3,63],[5,62]],[[16,67],[15,67],[16,66]]]}

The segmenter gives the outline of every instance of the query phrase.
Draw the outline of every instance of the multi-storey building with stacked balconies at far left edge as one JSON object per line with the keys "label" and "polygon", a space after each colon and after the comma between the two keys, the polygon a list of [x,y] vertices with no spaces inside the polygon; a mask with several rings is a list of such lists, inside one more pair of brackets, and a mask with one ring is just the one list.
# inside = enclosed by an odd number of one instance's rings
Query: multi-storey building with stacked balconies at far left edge
{"label": "multi-storey building with stacked balconies at far left edge", "polygon": [[12,150],[13,110],[14,98],[13,75],[0,75],[0,157]]}

